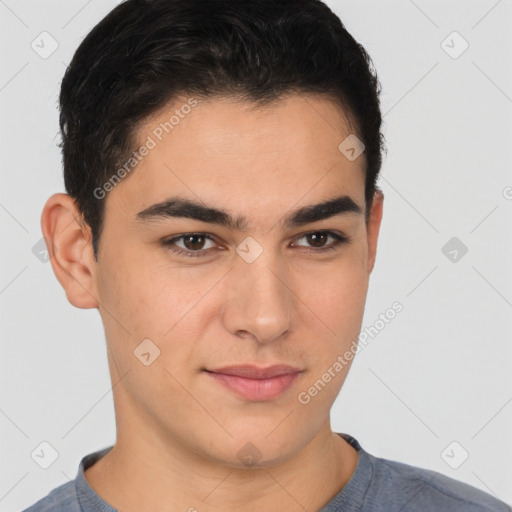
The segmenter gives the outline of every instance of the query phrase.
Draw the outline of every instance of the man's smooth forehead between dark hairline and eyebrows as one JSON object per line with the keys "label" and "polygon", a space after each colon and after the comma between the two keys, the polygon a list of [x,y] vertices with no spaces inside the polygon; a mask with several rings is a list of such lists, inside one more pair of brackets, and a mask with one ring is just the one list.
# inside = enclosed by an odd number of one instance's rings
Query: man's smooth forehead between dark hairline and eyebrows
{"label": "man's smooth forehead between dark hairline and eyebrows", "polygon": [[181,196],[249,217],[348,194],[364,209],[364,154],[350,161],[339,149],[351,133],[341,107],[323,96],[290,95],[260,108],[184,97],[138,128],[136,148],[151,149],[107,204],[135,215]]}

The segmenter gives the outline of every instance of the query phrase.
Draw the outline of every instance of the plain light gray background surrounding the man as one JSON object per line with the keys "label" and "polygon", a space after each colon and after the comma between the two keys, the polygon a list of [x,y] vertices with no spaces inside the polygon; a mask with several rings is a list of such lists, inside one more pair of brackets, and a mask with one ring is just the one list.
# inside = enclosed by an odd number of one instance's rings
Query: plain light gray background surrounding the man
{"label": "plain light gray background surrounding the man", "polygon": [[[116,4],[0,0],[2,511],[74,478],[115,440],[99,314],[71,306],[32,249],[44,202],[64,191],[60,81]],[[404,307],[357,355],[333,430],[512,503],[512,0],[328,4],[383,85],[384,219],[363,328]],[[43,31],[58,42],[47,58],[31,47],[51,49]],[[460,55],[454,31],[469,44]],[[456,261],[442,251],[452,237],[468,249]],[[43,441],[59,455],[48,469],[31,458]]]}

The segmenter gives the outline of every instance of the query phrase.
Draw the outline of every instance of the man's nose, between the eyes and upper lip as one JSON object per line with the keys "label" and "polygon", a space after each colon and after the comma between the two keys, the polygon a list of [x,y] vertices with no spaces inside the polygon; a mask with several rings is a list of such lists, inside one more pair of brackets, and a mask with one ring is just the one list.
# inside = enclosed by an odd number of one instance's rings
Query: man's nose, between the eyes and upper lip
{"label": "man's nose, between the eyes and upper lip", "polygon": [[296,300],[285,265],[264,251],[252,263],[240,258],[228,275],[225,328],[259,343],[283,338],[292,328]]}

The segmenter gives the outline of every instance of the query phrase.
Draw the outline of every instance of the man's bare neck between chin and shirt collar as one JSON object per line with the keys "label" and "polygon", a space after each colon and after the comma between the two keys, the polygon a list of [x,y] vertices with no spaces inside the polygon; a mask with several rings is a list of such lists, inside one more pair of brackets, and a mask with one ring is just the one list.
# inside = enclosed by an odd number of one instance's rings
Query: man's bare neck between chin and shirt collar
{"label": "man's bare neck between chin and shirt collar", "polygon": [[118,510],[318,510],[357,463],[356,450],[328,421],[292,458],[242,469],[193,453],[179,439],[166,437],[164,443],[149,430],[147,423],[145,429],[118,429],[112,450],[85,471],[89,485]]}

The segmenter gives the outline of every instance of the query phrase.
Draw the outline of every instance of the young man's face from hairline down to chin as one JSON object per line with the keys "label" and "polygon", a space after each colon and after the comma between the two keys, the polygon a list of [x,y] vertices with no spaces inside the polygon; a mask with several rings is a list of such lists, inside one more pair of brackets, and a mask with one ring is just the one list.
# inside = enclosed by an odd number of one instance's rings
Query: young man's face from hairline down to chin
{"label": "young man's face from hairline down to chin", "polygon": [[[329,425],[350,366],[335,363],[361,328],[381,198],[367,225],[364,154],[338,149],[351,131],[327,98],[184,104],[139,128],[137,147],[148,136],[156,146],[104,199],[92,293],[113,384],[123,379],[117,420],[216,463],[239,466],[252,450],[275,464]],[[245,365],[292,368],[266,379],[213,372]]]}

